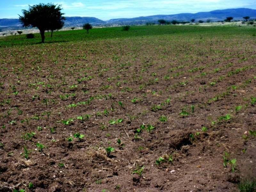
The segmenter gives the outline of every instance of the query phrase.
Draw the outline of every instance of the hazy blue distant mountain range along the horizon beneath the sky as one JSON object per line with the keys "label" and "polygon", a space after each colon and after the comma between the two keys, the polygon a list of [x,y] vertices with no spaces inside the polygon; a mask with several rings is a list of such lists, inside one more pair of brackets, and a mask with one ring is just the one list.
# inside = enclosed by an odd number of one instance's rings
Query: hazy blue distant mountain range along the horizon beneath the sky
{"label": "hazy blue distant mountain range along the horizon beneath the sky", "polygon": [[[95,17],[66,17],[64,27],[79,27],[84,23],[90,23],[92,25],[136,25],[145,24],[147,22],[157,23],[157,20],[163,19],[166,21],[190,21],[191,19],[219,21],[225,20],[226,17],[233,17],[234,20],[244,20],[243,17],[249,16],[250,19],[256,19],[256,10],[247,8],[238,9],[224,9],[215,10],[210,12],[198,12],[198,13],[179,13],[172,15],[153,15],[146,17],[136,17],[130,19],[111,19],[103,21]],[[0,19],[0,28],[12,27],[19,28],[21,24],[19,19]]]}

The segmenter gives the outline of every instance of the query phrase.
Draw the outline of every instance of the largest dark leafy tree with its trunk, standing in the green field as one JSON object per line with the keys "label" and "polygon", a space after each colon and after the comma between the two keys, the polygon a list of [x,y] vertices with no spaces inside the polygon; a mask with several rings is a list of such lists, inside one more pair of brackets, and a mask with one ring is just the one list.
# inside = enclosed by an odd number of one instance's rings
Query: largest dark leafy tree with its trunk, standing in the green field
{"label": "largest dark leafy tree with its trunk, standing in the green field", "polygon": [[42,37],[42,43],[44,43],[46,30],[53,32],[63,27],[66,19],[63,17],[64,13],[60,12],[61,10],[60,5],[52,3],[29,5],[28,10],[22,10],[23,16],[19,15],[19,20],[23,27],[37,27]]}

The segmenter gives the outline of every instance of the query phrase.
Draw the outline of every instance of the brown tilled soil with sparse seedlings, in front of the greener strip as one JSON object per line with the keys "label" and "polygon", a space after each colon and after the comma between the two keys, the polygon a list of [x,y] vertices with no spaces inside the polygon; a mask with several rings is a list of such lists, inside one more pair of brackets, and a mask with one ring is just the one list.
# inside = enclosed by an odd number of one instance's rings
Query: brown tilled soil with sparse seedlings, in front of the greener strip
{"label": "brown tilled soil with sparse seedlings, in front of the greener strip", "polygon": [[[219,192],[255,178],[255,40],[177,38],[2,49],[1,191]],[[236,158],[234,172],[224,151]]]}

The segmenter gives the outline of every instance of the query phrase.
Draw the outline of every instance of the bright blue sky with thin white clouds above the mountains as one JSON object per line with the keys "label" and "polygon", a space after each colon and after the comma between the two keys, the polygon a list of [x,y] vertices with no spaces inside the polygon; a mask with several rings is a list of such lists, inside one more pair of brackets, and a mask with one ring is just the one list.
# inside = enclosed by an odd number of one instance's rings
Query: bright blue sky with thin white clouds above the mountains
{"label": "bright blue sky with thin white clouds above the mountains", "polygon": [[150,15],[208,12],[218,9],[256,9],[256,0],[0,0],[0,19],[18,18],[28,4],[60,4],[64,16],[96,17],[101,20]]}

